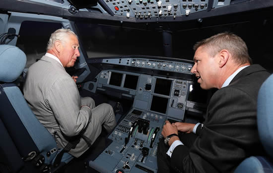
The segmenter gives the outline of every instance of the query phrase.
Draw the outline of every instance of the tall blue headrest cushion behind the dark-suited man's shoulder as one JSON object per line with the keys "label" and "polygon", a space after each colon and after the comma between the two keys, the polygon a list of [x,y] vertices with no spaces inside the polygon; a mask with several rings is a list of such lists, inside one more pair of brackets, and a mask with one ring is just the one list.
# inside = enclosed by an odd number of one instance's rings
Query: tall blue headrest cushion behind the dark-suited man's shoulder
{"label": "tall blue headrest cushion behind the dark-suited man's shoulder", "polygon": [[257,122],[261,142],[267,153],[273,157],[273,75],[259,90]]}

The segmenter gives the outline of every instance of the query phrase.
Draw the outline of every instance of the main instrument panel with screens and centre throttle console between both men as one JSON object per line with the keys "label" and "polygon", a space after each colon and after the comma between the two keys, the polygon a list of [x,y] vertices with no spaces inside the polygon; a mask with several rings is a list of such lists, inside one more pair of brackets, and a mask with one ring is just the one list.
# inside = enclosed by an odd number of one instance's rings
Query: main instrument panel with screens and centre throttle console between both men
{"label": "main instrument panel with screens and centre throttle console between both men", "polygon": [[[98,67],[103,70],[84,87],[92,85],[93,92],[131,99],[133,105],[108,136],[113,142],[89,166],[106,173],[156,173],[157,143],[165,121],[183,122],[186,111],[201,113],[204,105],[204,100],[193,96],[194,81],[179,78],[193,75],[193,63],[121,57],[102,59]],[[177,75],[162,75],[170,72]]]}

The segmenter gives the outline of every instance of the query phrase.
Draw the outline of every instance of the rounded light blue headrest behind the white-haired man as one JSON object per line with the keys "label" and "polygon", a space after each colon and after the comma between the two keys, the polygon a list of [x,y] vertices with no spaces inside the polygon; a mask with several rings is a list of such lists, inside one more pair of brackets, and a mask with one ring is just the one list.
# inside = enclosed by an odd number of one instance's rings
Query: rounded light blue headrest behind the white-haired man
{"label": "rounded light blue headrest behind the white-haired man", "polygon": [[26,65],[26,55],[13,45],[0,45],[0,81],[13,82],[23,72]]}

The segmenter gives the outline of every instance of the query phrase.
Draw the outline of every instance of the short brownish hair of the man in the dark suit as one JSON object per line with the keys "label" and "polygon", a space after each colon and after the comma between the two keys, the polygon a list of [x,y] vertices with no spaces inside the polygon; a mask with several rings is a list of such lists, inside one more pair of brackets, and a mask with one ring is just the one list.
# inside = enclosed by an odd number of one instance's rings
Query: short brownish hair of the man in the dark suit
{"label": "short brownish hair of the man in the dark suit", "polygon": [[248,54],[246,43],[237,35],[229,32],[224,32],[204,39],[194,45],[194,51],[198,47],[203,46],[207,49],[210,56],[214,57],[221,50],[228,50],[235,63],[237,64],[252,64],[252,59]]}

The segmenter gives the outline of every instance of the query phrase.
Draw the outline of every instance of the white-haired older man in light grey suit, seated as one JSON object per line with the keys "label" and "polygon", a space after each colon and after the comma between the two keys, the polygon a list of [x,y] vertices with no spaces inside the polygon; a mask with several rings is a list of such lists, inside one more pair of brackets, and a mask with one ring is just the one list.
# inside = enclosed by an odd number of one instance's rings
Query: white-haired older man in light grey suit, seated
{"label": "white-haired older man in light grey suit, seated", "polygon": [[80,97],[76,78],[65,67],[72,67],[80,55],[77,36],[68,29],[52,33],[47,53],[27,72],[24,97],[38,120],[64,148],[68,138],[82,134],[68,153],[83,154],[99,136],[102,126],[110,132],[116,126],[113,108],[106,103],[95,107],[90,97]]}

